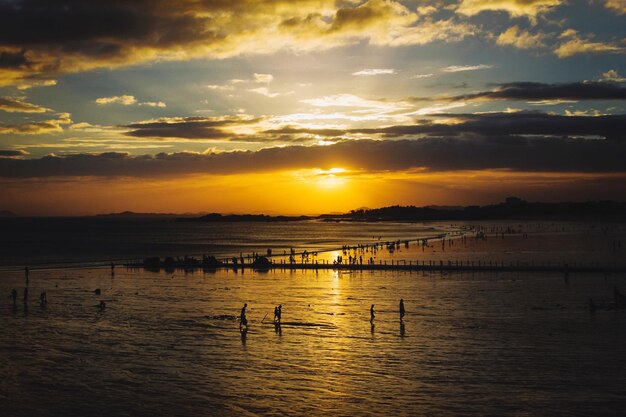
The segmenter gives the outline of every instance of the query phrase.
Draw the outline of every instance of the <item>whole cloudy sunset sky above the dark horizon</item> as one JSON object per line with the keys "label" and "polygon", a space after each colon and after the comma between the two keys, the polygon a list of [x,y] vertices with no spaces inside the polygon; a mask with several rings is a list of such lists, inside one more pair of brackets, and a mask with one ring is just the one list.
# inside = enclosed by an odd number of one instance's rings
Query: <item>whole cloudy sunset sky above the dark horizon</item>
{"label": "whole cloudy sunset sky above the dark horizon", "polygon": [[0,0],[0,210],[624,200],[626,0]]}

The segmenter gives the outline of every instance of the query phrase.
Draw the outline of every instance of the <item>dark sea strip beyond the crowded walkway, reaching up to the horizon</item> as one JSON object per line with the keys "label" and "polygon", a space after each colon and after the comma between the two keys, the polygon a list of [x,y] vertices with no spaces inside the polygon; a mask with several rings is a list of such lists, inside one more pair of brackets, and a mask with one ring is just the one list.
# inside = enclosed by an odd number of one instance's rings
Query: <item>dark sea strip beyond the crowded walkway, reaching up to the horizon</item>
{"label": "dark sea strip beyond the crowded walkway, reaching up to the horizon", "polygon": [[108,264],[149,256],[336,248],[415,239],[456,227],[448,223],[178,222],[171,218],[0,218],[0,267]]}

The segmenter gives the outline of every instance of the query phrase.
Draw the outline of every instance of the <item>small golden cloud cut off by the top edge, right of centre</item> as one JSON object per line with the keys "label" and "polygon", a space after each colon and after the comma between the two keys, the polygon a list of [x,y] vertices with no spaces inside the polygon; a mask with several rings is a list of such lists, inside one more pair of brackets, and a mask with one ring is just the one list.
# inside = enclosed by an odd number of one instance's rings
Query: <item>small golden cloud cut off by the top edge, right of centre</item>
{"label": "small golden cloud cut off by the top edge, right of centre", "polygon": [[513,17],[526,16],[533,20],[562,3],[563,0],[461,0],[456,11],[469,16],[484,11],[504,11]]}

